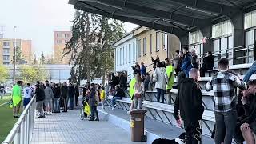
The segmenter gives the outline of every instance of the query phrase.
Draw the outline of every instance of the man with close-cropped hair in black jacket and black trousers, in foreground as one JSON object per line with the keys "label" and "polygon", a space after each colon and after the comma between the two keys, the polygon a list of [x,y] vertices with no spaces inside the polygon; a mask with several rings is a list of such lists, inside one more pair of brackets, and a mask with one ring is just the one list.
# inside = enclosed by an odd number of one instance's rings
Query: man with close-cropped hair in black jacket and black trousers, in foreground
{"label": "man with close-cropped hair in black jacket and black trousers, in foreground", "polygon": [[[198,69],[192,68],[189,78],[184,78],[180,83],[178,95],[175,100],[174,117],[178,126],[184,121],[186,130],[186,144],[201,142],[201,123],[204,107],[202,106],[202,92],[198,84],[200,73]],[[178,114],[180,110],[180,114]]]}

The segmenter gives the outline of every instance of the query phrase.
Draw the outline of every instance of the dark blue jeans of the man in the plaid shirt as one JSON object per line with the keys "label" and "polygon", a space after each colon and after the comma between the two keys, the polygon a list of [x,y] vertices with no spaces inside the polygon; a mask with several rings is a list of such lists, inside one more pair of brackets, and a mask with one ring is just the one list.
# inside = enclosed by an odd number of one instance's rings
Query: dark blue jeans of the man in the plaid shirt
{"label": "dark blue jeans of the man in the plaid shirt", "polygon": [[216,132],[215,143],[231,144],[237,124],[237,110],[232,109],[228,112],[215,112]]}

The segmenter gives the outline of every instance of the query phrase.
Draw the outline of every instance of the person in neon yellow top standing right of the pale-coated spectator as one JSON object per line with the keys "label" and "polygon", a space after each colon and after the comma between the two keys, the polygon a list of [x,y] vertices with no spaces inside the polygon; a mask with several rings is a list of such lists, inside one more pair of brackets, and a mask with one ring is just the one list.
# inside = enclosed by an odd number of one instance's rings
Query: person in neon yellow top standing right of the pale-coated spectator
{"label": "person in neon yellow top standing right of the pale-coated spectator", "polygon": [[174,67],[171,65],[171,62],[168,58],[166,58],[166,74],[168,77],[168,83],[166,86],[166,93],[168,94],[167,103],[171,104],[171,94],[170,90],[173,88],[174,85]]}

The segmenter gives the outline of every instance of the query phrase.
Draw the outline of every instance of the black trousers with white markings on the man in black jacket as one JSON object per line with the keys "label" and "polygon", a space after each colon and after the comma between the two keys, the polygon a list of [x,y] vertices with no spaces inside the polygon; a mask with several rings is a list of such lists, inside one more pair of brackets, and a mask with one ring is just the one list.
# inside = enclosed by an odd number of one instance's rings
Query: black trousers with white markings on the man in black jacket
{"label": "black trousers with white markings on the man in black jacket", "polygon": [[202,128],[199,121],[184,122],[186,131],[186,144],[199,144],[202,142]]}

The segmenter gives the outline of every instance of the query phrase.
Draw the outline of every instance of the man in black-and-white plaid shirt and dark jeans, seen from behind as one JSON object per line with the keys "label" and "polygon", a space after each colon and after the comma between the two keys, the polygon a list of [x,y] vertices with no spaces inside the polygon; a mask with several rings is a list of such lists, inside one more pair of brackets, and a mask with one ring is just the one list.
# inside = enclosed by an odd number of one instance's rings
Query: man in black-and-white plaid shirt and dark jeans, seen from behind
{"label": "man in black-and-white plaid shirt and dark jeans, seen from behind", "polygon": [[235,89],[238,87],[246,90],[246,82],[242,82],[238,76],[228,72],[229,61],[226,58],[219,60],[218,69],[218,73],[207,82],[206,90],[214,90],[215,143],[230,144],[237,122]]}

